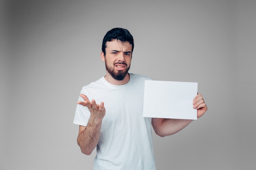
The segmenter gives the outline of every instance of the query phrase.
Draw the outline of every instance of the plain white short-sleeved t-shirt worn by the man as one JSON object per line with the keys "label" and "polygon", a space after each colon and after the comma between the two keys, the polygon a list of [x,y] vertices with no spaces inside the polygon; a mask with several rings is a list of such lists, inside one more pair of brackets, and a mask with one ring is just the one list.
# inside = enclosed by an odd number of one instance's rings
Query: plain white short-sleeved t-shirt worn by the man
{"label": "plain white short-sleeved t-shirt worn by the man", "polygon": [[[151,118],[143,117],[145,80],[152,79],[130,74],[130,81],[118,86],[101,77],[82,88],[81,94],[106,108],[95,170],[155,170]],[[89,118],[88,108],[77,105],[74,124],[87,126]]]}

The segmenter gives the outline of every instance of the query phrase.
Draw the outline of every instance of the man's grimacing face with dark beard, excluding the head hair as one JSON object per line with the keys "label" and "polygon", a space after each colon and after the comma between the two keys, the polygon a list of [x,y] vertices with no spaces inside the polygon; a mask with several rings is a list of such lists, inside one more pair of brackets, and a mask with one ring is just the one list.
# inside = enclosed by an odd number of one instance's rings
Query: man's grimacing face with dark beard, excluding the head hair
{"label": "man's grimacing face with dark beard, excluding the head hair", "polygon": [[120,40],[112,40],[106,43],[106,54],[101,53],[101,59],[105,61],[106,70],[116,80],[123,80],[130,69],[132,60],[132,44]]}

